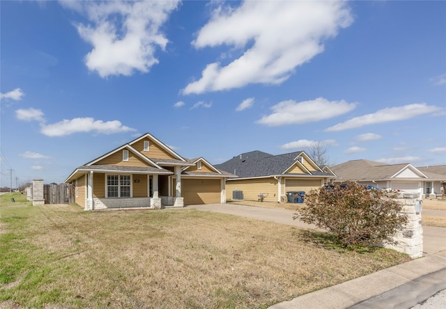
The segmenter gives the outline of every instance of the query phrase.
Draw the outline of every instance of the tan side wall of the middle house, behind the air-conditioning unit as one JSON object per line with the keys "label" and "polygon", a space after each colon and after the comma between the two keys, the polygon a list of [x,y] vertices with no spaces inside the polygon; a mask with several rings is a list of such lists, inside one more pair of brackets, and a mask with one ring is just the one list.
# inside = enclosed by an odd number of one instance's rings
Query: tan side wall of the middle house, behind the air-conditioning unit
{"label": "tan side wall of the middle house, behind the air-conditioning unit", "polygon": [[226,198],[232,199],[232,191],[243,191],[243,199],[259,200],[263,193],[266,202],[277,202],[277,180],[273,177],[251,180],[229,180],[226,182]]}

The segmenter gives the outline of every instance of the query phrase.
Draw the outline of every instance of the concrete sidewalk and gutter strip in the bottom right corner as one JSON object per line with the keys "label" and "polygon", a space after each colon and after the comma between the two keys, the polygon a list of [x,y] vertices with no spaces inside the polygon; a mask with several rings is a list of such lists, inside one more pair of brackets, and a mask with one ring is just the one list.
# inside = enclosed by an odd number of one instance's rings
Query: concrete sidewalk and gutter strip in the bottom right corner
{"label": "concrete sidewalk and gutter strip in the bottom right corner", "polygon": [[446,251],[271,306],[271,309],[411,308],[446,289]]}

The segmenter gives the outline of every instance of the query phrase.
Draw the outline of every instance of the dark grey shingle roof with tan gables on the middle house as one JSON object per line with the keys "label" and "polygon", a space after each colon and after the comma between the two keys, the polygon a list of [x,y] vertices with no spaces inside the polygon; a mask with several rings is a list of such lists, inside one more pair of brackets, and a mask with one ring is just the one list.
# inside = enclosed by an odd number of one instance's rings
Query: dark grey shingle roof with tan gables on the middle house
{"label": "dark grey shingle roof with tan gables on the middle house", "polygon": [[[235,175],[238,175],[239,178],[282,175],[288,171],[291,166],[296,164],[296,162],[297,164],[300,164],[300,162],[297,161],[297,158],[302,154],[305,154],[305,152],[298,151],[272,155],[256,150],[239,154],[222,164],[216,164],[215,167],[223,171],[228,171],[229,173],[234,173]],[[307,154],[305,154],[305,156],[309,159]],[[303,165],[302,168],[308,171]],[[308,171],[308,173],[299,174],[290,173],[287,175],[330,176],[329,174],[324,173],[320,168],[319,171]]]}

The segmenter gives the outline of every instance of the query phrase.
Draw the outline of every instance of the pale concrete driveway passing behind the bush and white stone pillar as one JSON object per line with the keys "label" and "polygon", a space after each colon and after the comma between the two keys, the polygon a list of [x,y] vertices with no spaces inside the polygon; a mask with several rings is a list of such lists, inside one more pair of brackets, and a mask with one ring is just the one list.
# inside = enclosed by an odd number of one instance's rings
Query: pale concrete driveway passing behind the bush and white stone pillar
{"label": "pale concrete driveway passing behind the bush and white stone pillar", "polygon": [[[314,225],[303,223],[299,220],[293,220],[293,214],[295,212],[287,209],[271,209],[234,204],[188,205],[185,208],[199,209],[208,212],[220,212],[222,214],[233,214],[234,216],[243,216],[249,219],[294,225],[299,228],[316,228]],[[423,226],[423,236],[424,255],[431,255],[446,250],[446,228]]]}

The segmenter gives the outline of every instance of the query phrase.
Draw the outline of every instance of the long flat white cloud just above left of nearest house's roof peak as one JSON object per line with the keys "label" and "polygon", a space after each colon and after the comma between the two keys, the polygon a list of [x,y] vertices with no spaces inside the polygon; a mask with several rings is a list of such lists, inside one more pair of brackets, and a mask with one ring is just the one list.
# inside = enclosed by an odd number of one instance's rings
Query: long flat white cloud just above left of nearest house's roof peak
{"label": "long flat white cloud just above left of nearest house's roof peak", "polygon": [[113,134],[120,132],[136,131],[122,125],[118,120],[102,121],[94,118],[73,118],[62,120],[52,125],[43,125],[40,132],[47,136],[66,136],[79,132],[95,132],[102,134]]}

